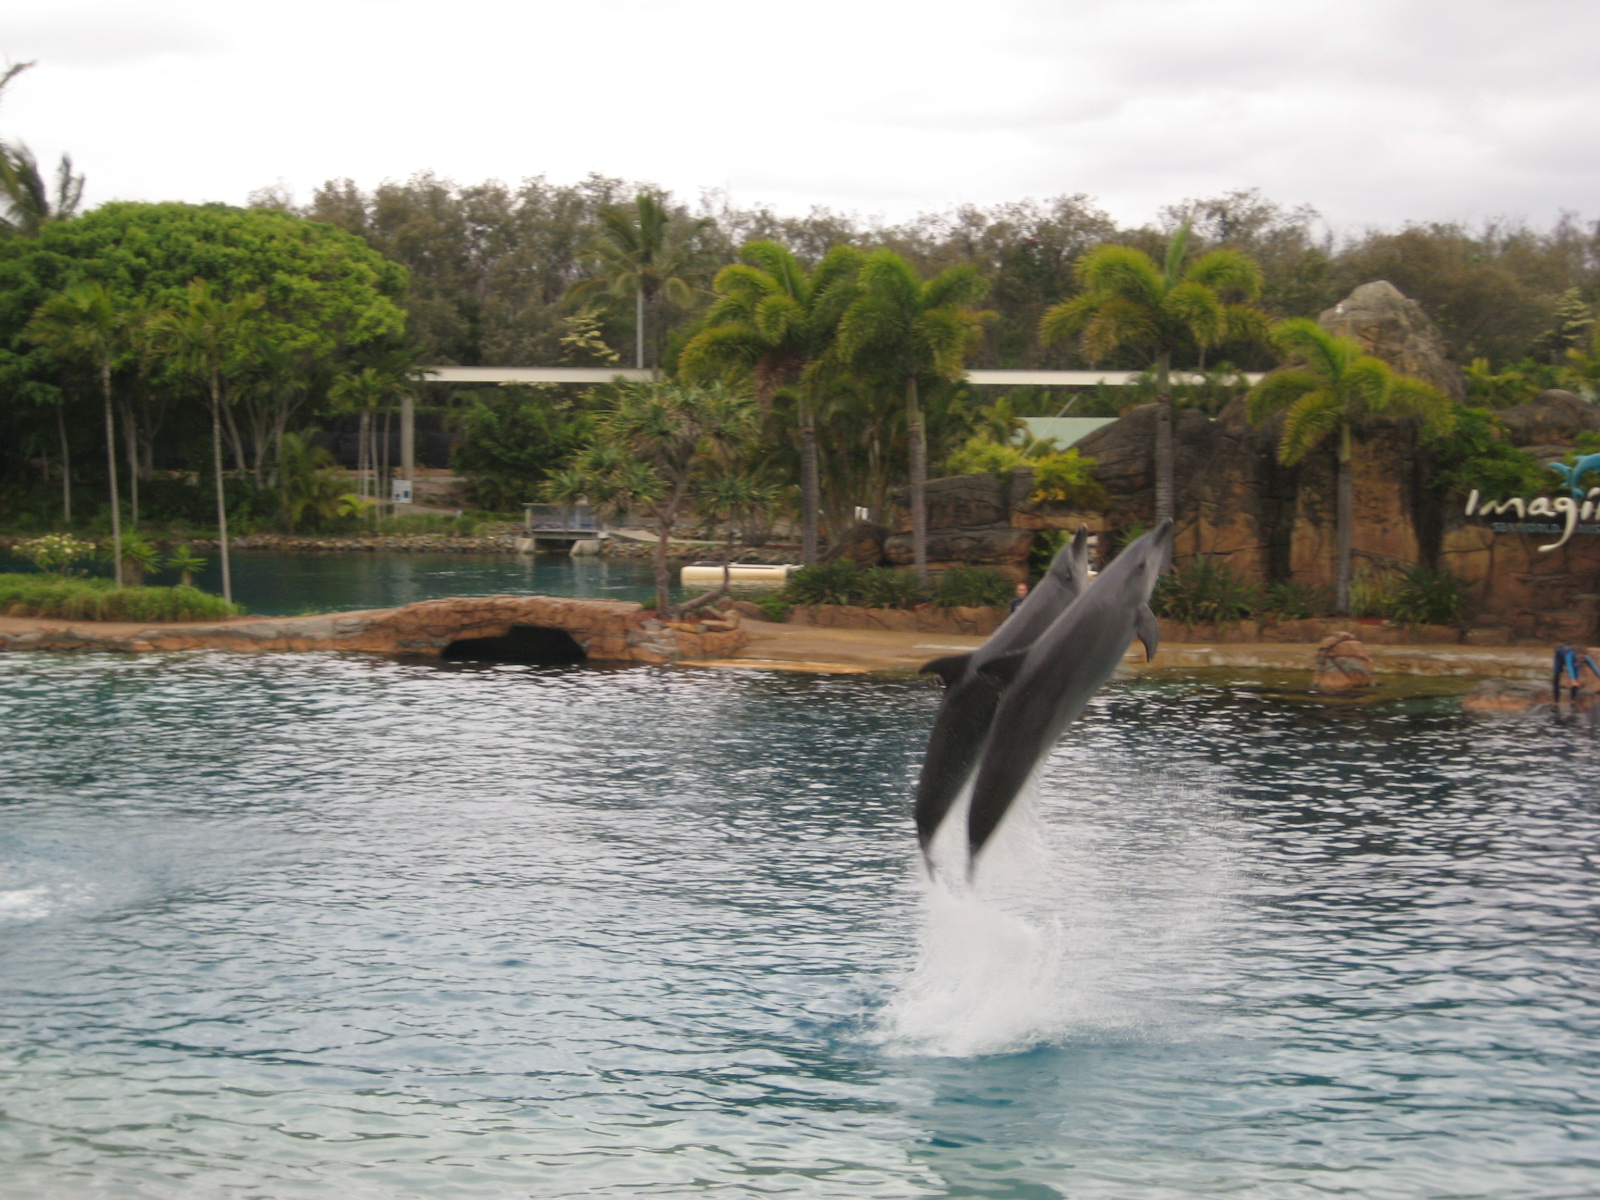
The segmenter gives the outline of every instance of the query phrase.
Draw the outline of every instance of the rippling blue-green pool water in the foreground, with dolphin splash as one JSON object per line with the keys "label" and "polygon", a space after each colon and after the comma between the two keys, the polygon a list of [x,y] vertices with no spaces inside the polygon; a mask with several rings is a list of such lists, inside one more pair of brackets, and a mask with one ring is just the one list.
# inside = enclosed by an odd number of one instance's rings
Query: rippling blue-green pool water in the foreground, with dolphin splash
{"label": "rippling blue-green pool water in the foreground, with dolphin splash", "polygon": [[13,1197],[1592,1197],[1600,746],[1120,683],[0,659]]}

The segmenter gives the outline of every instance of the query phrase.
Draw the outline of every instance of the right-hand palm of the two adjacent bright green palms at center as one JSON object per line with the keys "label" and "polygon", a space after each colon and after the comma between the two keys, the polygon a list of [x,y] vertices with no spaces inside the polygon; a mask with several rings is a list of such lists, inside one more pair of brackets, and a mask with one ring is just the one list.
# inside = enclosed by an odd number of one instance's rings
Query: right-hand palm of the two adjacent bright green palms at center
{"label": "right-hand palm of the two adjacent bright green palms at center", "polygon": [[962,378],[989,315],[971,306],[987,291],[989,282],[971,266],[949,267],[923,282],[893,250],[874,250],[862,259],[854,294],[838,318],[837,360],[906,389],[912,560],[923,584],[928,582],[928,443],[917,387],[923,376]]}

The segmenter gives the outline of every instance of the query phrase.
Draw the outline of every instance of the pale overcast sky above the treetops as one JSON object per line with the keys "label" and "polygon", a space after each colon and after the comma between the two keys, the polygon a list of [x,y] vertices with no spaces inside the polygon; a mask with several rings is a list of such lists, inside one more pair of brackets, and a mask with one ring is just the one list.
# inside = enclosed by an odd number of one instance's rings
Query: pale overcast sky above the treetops
{"label": "pale overcast sky above the treetops", "polygon": [[1600,216],[1597,0],[14,2],[0,138],[70,150],[90,203],[432,170],[891,219]]}

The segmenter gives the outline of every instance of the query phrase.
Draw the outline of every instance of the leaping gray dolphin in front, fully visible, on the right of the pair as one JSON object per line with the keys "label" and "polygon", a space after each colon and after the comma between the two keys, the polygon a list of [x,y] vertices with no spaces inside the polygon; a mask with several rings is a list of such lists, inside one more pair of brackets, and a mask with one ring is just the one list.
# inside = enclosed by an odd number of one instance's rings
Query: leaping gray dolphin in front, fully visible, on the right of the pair
{"label": "leaping gray dolphin in front, fully visible, on the right of the pair", "polygon": [[1027,650],[994,658],[979,670],[1002,696],[966,816],[974,862],[1056,738],[1110,678],[1128,643],[1138,637],[1146,658],[1155,656],[1160,629],[1150,594],[1171,560],[1171,546],[1173,523],[1165,520],[1118,554]]}

